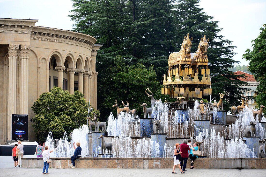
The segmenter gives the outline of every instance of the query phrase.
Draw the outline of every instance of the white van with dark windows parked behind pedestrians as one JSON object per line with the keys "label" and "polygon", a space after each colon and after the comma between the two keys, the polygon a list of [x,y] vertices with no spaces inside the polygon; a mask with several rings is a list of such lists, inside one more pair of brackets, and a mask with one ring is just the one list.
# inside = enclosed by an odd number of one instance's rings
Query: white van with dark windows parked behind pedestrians
{"label": "white van with dark windows parked behind pedestrians", "polygon": [[[12,159],[12,149],[15,147],[15,143],[9,143],[5,145],[0,145],[0,168],[10,168],[14,167],[14,160]],[[36,147],[38,143],[35,142],[22,142],[23,147],[23,158],[24,157],[36,157]]]}

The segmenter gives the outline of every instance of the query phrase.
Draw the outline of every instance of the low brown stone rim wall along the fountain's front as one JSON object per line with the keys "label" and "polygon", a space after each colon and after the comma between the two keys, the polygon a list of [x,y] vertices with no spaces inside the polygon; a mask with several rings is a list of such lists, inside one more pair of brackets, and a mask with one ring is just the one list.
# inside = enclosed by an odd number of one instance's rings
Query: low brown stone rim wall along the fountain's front
{"label": "low brown stone rim wall along the fountain's front", "polygon": [[[51,158],[52,168],[68,168],[70,158]],[[172,158],[94,158],[85,157],[75,161],[76,168],[123,168],[154,169],[173,168]],[[43,168],[43,158],[22,158],[23,168]],[[190,163],[187,163],[187,169]],[[266,158],[198,158],[194,168],[202,169],[266,169]]]}

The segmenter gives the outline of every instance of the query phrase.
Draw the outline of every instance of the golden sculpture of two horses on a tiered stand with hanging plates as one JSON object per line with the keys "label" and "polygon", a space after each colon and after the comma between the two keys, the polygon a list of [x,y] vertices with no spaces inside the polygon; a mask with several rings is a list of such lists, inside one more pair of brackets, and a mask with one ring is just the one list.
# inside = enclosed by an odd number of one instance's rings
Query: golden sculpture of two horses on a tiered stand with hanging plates
{"label": "golden sculpture of two horses on a tiered stand with hanging plates", "polygon": [[212,94],[207,57],[209,38],[206,40],[206,35],[201,38],[196,53],[190,53],[192,40],[193,37],[189,38],[188,34],[184,37],[181,50],[169,55],[169,69],[163,76],[162,94],[168,94],[171,98],[182,95],[185,100]]}

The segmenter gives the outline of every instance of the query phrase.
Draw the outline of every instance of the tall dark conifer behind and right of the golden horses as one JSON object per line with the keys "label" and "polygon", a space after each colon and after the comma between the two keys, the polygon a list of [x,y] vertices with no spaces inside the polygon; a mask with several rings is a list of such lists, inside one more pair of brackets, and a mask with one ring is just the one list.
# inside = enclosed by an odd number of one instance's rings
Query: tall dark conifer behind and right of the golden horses
{"label": "tall dark conifer behind and right of the golden horses", "polygon": [[[219,35],[222,29],[218,28],[218,21],[212,21],[213,16],[203,12],[203,8],[199,8],[200,0],[179,0],[177,4],[178,16],[180,19],[179,36],[186,36],[187,33],[193,37],[193,46],[191,51],[197,51],[198,44],[203,35],[209,38],[208,60],[209,69],[212,75],[217,74],[211,79],[213,88],[213,97],[219,100],[218,93],[224,93],[223,99],[224,110],[231,110],[230,107],[238,105],[241,94],[248,90],[240,86],[247,86],[246,82],[240,81],[243,75],[235,75],[229,68],[234,67],[238,63],[233,59],[235,46],[232,41],[223,39],[224,36]],[[183,38],[180,38],[180,45]],[[208,96],[204,96],[209,100]],[[217,99],[218,98],[218,99]]]}

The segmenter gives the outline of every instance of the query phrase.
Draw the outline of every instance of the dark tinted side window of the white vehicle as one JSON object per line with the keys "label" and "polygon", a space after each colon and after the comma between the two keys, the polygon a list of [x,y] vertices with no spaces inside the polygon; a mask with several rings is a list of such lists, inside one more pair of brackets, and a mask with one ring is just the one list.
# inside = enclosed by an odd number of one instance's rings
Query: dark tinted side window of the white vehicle
{"label": "dark tinted side window of the white vehicle", "polygon": [[[12,156],[14,145],[0,146],[0,156]],[[37,145],[23,145],[24,156],[34,155]]]}

